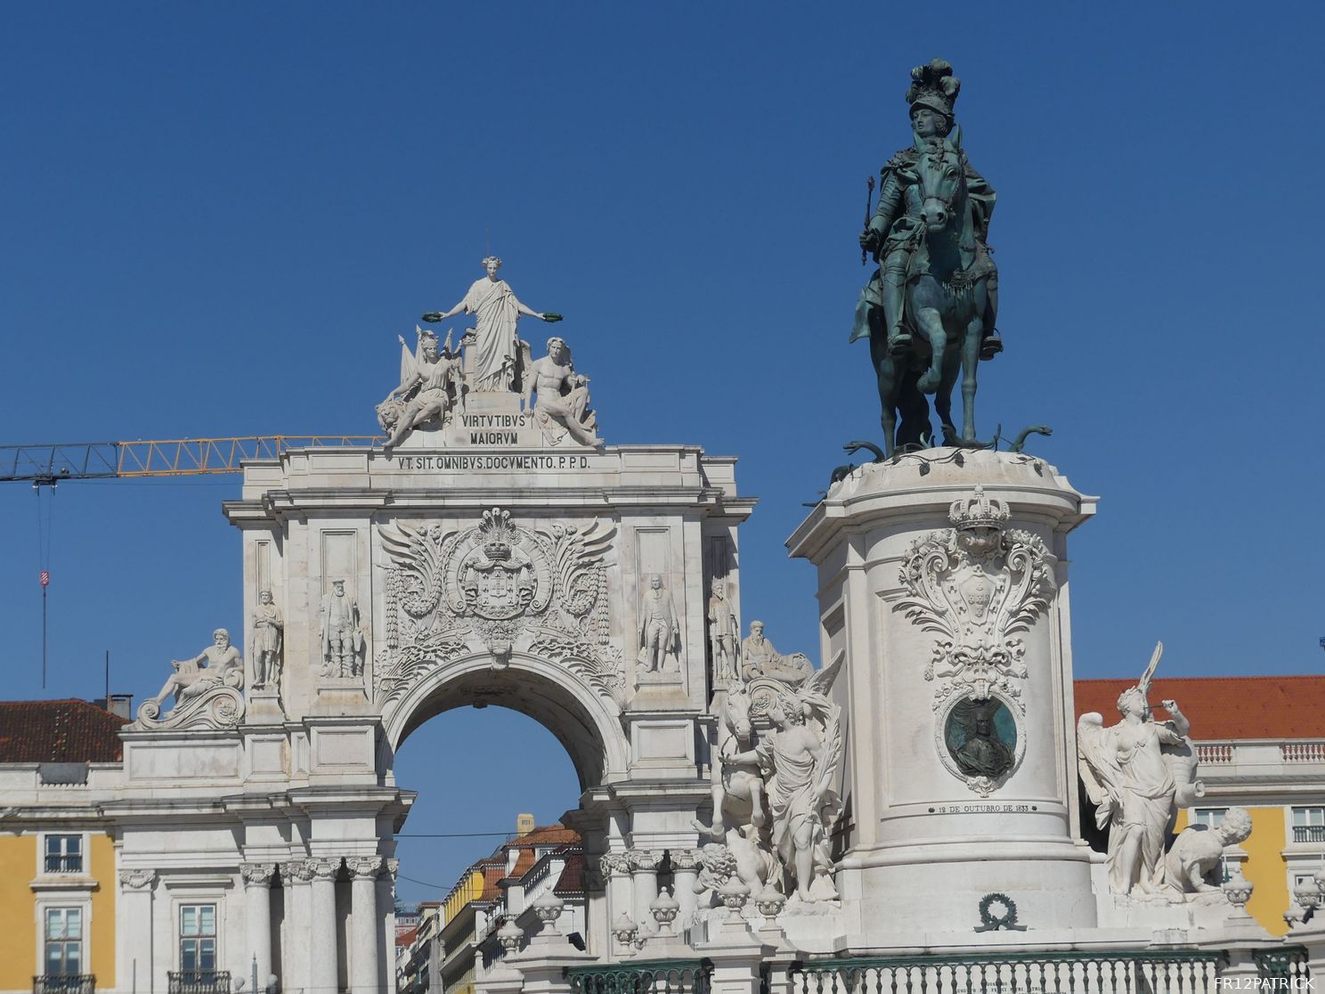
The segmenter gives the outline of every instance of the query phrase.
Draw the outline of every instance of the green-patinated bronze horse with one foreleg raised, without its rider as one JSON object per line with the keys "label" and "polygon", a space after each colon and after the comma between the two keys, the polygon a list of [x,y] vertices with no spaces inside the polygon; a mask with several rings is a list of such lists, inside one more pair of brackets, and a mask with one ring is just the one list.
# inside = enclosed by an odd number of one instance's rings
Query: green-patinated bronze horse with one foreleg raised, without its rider
{"label": "green-patinated bronze horse with one foreleg raised, without its rider", "polygon": [[[931,445],[929,403],[934,395],[949,445],[975,440],[975,367],[994,327],[990,282],[994,261],[977,237],[966,186],[962,133],[916,138],[916,182],[922,223],[912,233],[902,321],[912,345],[890,354],[881,309],[869,314],[869,354],[878,379],[885,453],[896,445]],[[953,424],[953,387],[962,380],[962,431]],[[897,424],[898,415],[901,425]]]}

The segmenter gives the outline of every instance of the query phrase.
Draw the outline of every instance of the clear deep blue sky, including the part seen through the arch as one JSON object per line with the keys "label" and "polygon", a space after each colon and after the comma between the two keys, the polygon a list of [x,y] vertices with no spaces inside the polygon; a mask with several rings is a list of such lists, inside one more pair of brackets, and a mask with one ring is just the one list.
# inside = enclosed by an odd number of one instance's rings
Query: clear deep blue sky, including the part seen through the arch
{"label": "clear deep blue sky, including the part seen through the arch", "polygon": [[[909,142],[909,69],[942,56],[999,193],[1008,347],[980,432],[1051,424],[1032,451],[1102,497],[1071,543],[1077,675],[1140,672],[1155,639],[1170,676],[1317,672],[1320,7],[931,11],[11,5],[0,444],[371,433],[396,335],[490,249],[566,314],[608,443],[739,456],[746,612],[808,649],[814,573],[782,542],[840,445],[877,439],[847,345],[864,180]],[[41,498],[42,690],[38,498],[0,486],[5,694],[95,696],[109,648],[140,700],[240,628],[236,490]],[[474,738],[488,759],[440,777]],[[400,757],[409,830],[555,818],[575,787],[553,742],[500,709],[429,722]],[[407,843],[403,872],[449,887],[496,842]]]}

